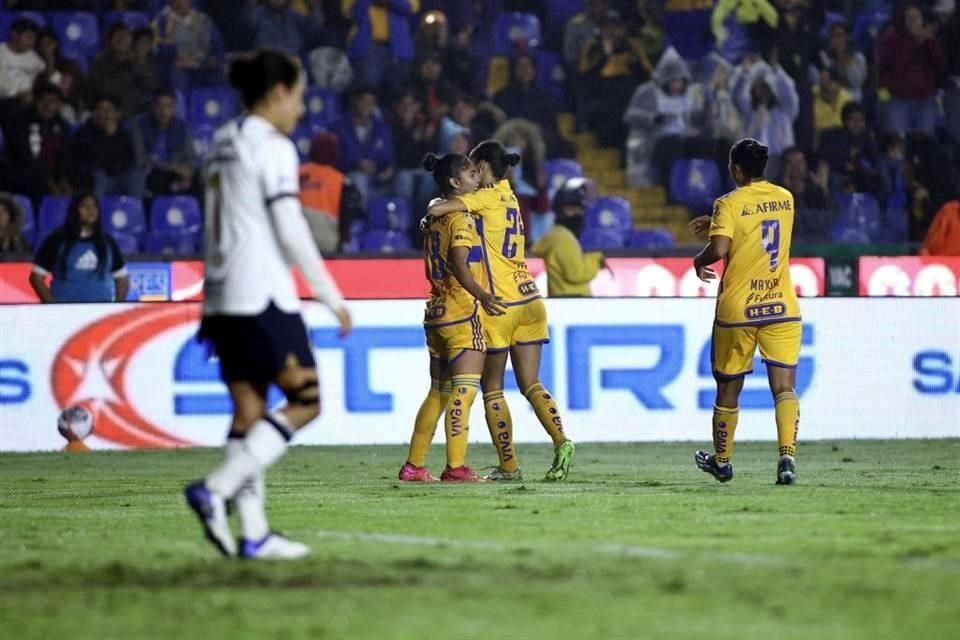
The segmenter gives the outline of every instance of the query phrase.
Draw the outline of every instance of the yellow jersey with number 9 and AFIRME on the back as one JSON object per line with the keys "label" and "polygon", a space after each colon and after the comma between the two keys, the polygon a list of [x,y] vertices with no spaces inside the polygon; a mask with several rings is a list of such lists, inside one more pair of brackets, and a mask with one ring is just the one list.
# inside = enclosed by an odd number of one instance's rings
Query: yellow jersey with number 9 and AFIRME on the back
{"label": "yellow jersey with number 9 and AFIRME on the back", "polygon": [[800,320],[790,280],[793,194],[766,180],[717,198],[711,236],[730,238],[717,299],[720,326]]}

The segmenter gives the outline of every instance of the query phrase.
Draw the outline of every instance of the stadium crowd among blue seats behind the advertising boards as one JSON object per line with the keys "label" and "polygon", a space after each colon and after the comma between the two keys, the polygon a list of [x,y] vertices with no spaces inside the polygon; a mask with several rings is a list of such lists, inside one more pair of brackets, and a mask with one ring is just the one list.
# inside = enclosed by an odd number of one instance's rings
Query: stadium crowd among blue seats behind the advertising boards
{"label": "stadium crowd among blue seats behind the advertising boards", "polygon": [[88,190],[123,253],[198,252],[225,62],[262,46],[309,77],[294,139],[326,252],[415,248],[424,155],[488,138],[523,158],[531,242],[575,196],[585,249],[662,250],[750,136],[798,241],[960,254],[950,0],[7,0],[0,39],[0,255]]}

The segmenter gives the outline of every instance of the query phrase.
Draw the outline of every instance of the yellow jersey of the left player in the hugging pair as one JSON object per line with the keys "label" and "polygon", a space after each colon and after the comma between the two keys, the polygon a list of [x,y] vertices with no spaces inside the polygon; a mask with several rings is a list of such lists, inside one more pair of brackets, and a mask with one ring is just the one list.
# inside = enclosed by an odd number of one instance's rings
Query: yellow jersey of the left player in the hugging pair
{"label": "yellow jersey of the left player in the hugging pair", "polygon": [[432,218],[423,247],[427,280],[430,281],[430,299],[423,317],[425,324],[457,322],[476,311],[476,300],[450,268],[448,257],[454,247],[470,248],[470,273],[484,289],[490,286],[473,216],[459,212]]}

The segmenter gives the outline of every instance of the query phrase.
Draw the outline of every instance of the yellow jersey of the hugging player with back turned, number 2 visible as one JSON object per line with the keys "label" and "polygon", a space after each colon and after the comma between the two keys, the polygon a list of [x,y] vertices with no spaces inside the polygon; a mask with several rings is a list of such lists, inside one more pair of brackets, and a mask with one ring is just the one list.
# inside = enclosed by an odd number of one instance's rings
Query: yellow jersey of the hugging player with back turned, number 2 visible
{"label": "yellow jersey of the hugging player with back turned, number 2 visible", "polygon": [[477,216],[477,233],[494,295],[508,305],[540,297],[537,283],[527,268],[526,235],[520,217],[520,203],[509,180],[456,196]]}

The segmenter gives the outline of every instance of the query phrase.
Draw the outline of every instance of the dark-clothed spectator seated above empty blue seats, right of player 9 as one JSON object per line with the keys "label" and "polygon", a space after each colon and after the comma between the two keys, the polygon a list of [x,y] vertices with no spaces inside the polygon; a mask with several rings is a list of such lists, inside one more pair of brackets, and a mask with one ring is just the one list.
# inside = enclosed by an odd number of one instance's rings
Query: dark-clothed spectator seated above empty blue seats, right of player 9
{"label": "dark-clothed spectator seated above empty blue seats, right of player 9", "polygon": [[869,193],[880,197],[880,154],[873,132],[867,129],[867,114],[859,102],[848,102],[841,111],[843,127],[827,129],[817,148],[821,162],[830,169],[831,194]]}

